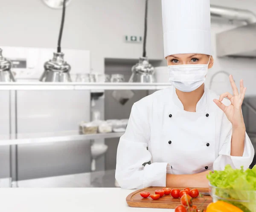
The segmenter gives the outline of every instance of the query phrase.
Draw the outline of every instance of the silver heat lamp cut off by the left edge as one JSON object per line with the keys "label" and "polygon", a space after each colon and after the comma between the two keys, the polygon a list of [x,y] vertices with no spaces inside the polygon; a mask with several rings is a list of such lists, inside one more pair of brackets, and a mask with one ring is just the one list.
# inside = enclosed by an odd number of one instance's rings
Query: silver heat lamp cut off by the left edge
{"label": "silver heat lamp cut off by the left edge", "polygon": [[0,48],[0,82],[15,82],[12,74],[12,62],[4,58],[3,50]]}

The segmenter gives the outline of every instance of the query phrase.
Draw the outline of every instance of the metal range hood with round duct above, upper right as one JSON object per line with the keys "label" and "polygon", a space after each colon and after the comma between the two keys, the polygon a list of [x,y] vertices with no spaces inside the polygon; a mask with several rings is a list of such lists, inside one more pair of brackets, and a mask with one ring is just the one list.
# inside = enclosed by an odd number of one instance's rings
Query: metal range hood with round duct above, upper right
{"label": "metal range hood with round duct above, upper right", "polygon": [[248,10],[211,6],[211,15],[244,22],[216,35],[218,57],[256,57],[256,15]]}

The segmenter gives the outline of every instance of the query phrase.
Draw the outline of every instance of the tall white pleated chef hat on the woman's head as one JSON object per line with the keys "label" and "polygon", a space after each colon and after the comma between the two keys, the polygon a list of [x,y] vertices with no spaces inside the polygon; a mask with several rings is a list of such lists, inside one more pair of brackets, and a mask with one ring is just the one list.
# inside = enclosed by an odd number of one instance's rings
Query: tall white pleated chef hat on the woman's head
{"label": "tall white pleated chef hat on the woman's head", "polygon": [[164,56],[211,55],[210,0],[162,0]]}

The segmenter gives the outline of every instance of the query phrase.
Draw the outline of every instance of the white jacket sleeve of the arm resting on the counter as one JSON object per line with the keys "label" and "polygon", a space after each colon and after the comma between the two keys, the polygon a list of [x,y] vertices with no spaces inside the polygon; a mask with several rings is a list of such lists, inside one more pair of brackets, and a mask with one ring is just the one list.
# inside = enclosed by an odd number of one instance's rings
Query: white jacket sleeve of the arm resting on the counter
{"label": "white jacket sleeve of the arm resting on the counter", "polygon": [[[150,124],[146,108],[139,110],[136,103],[125,134],[120,138],[116,156],[116,181],[124,189],[166,186],[168,163],[151,163],[147,150],[150,141]],[[144,166],[145,165],[145,166]]]}

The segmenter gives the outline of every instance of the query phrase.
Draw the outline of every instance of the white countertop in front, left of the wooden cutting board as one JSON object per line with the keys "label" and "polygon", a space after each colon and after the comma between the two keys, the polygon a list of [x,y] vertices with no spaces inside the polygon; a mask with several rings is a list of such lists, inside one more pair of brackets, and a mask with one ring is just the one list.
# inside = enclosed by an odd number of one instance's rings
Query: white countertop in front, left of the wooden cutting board
{"label": "white countertop in front, left of the wooden cutting board", "polygon": [[174,212],[172,209],[132,208],[121,188],[1,188],[4,212]]}

